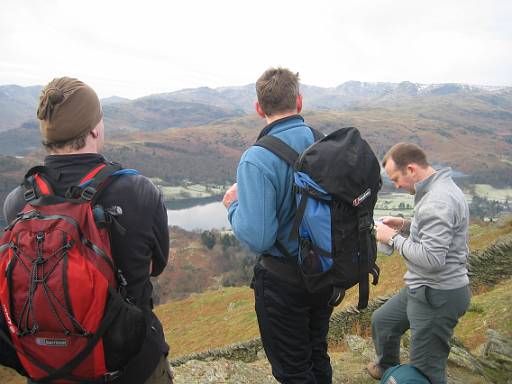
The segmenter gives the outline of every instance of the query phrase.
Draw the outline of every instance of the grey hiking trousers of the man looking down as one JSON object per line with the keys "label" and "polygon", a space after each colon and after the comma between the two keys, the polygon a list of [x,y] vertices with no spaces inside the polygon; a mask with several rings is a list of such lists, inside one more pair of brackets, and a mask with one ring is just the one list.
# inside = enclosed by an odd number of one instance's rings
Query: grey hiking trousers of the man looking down
{"label": "grey hiking trousers of the man looking down", "polygon": [[400,363],[400,337],[411,329],[410,363],[432,384],[445,384],[450,339],[470,298],[469,286],[402,288],[372,315],[372,338],[382,370]]}

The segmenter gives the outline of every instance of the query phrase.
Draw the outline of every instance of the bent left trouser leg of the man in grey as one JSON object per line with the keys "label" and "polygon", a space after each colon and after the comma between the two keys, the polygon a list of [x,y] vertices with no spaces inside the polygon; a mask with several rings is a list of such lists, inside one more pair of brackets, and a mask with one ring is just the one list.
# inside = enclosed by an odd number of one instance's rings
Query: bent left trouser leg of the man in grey
{"label": "bent left trouser leg of the man in grey", "polygon": [[400,364],[400,337],[408,329],[407,291],[403,288],[372,315],[372,339],[383,371]]}

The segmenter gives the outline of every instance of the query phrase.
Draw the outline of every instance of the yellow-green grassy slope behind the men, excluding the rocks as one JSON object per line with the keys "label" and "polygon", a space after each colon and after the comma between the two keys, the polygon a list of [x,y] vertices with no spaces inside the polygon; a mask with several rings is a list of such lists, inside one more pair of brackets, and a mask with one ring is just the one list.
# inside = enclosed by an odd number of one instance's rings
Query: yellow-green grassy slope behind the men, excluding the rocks
{"label": "yellow-green grassy slope behind the men, excluding the rocks", "polygon": [[[472,250],[483,249],[498,239],[510,238],[511,234],[510,219],[502,223],[474,224],[470,229],[470,247]],[[191,245],[193,247],[193,243]],[[196,247],[199,244],[196,243]],[[391,294],[403,286],[405,266],[401,258],[396,255],[379,256],[378,263],[382,279],[378,286],[372,286],[371,297]],[[472,349],[482,344],[487,328],[512,337],[511,300],[512,279],[479,290],[472,299],[470,310],[457,326],[455,335]],[[357,290],[352,289],[335,311],[356,302]],[[253,292],[248,287],[220,288],[192,294],[186,299],[158,306],[156,313],[164,325],[172,357],[222,347],[259,335]],[[341,347],[334,350],[338,348]],[[24,381],[12,371],[0,368],[0,382],[21,384]]]}

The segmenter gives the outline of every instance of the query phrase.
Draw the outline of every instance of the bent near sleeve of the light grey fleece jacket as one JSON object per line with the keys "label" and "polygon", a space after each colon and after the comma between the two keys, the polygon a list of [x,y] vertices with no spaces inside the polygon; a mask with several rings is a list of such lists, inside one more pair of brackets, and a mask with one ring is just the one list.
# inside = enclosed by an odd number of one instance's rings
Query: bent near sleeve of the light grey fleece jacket
{"label": "bent near sleeve of the light grey fleece jacket", "polygon": [[432,202],[421,208],[416,219],[419,242],[399,235],[395,239],[397,249],[410,263],[439,271],[453,241],[454,210],[445,202]]}

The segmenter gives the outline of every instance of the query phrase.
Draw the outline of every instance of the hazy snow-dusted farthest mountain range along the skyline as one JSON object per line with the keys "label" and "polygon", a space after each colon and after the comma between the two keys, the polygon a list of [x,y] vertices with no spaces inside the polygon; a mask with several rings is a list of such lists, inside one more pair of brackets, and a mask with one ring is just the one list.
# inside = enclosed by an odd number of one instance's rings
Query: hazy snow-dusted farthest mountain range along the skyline
{"label": "hazy snow-dusted farthest mountain range along the skyline", "polygon": [[[35,121],[41,86],[0,86],[0,131]],[[480,104],[485,113],[512,111],[512,87],[467,84],[418,84],[348,81],[337,87],[302,85],[305,110],[347,110],[361,107],[466,103]],[[206,124],[253,113],[254,84],[221,88],[190,88],[135,100],[112,96],[102,99],[105,120],[112,130],[159,130]],[[468,102],[469,101],[469,102]],[[484,105],[485,104],[485,105]]]}

